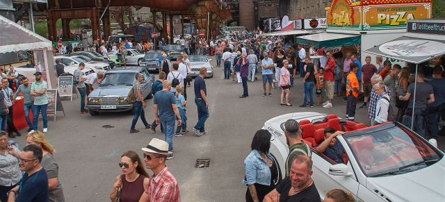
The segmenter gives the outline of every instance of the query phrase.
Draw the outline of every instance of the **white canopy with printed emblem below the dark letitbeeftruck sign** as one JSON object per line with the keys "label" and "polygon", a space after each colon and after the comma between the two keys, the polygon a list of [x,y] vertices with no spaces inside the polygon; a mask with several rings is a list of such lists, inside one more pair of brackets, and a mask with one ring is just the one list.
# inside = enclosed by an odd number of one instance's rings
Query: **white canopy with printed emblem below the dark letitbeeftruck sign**
{"label": "white canopy with printed emblem below the dark letitbeeftruck sign", "polygon": [[406,33],[364,52],[419,64],[445,54],[445,35]]}

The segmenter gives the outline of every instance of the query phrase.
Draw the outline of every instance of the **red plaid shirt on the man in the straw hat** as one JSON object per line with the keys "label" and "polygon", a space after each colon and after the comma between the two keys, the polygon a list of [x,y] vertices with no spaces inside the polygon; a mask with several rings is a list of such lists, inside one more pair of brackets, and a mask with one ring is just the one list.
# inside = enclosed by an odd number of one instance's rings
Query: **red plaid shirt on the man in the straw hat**
{"label": "red plaid shirt on the man in the straw hat", "polygon": [[149,201],[180,202],[179,185],[174,176],[165,167],[157,176],[151,176],[145,194]]}

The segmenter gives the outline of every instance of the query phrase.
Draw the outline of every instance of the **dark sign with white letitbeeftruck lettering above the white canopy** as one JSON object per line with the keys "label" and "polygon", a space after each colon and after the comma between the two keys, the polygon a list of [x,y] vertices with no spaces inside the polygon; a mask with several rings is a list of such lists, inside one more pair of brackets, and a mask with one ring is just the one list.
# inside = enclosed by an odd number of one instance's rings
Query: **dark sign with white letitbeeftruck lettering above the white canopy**
{"label": "dark sign with white letitbeeftruck lettering above the white canopy", "polygon": [[445,35],[445,20],[442,22],[408,22],[407,32]]}

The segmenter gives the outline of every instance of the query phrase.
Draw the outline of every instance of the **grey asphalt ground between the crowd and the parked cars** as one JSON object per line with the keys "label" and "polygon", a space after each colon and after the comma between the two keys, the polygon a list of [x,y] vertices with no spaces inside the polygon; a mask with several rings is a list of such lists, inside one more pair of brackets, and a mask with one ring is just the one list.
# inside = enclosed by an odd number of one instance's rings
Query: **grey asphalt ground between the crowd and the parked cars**
{"label": "grey asphalt ground between the crowd and the parked cars", "polygon": [[[206,78],[209,114],[205,126],[210,133],[197,137],[191,130],[197,122],[194,103],[193,83],[188,88],[187,129],[184,137],[174,137],[175,158],[166,165],[179,182],[182,201],[244,201],[247,187],[241,182],[245,176],[243,160],[250,153],[250,143],[254,133],[264,126],[264,122],[289,112],[322,112],[343,117],[346,102],[334,97],[333,108],[300,109],[303,102],[302,79],[296,78],[291,88],[293,106],[280,106],[280,93],[273,89],[273,96],[262,96],[261,72],[258,81],[248,82],[249,96],[243,94],[242,84],[223,79],[223,67],[216,67],[215,57],[213,78]],[[157,78],[157,74],[155,75]],[[129,133],[133,115],[129,112],[100,113],[92,117],[80,114],[79,98],[72,101],[64,98],[63,113],[58,112],[54,122],[49,117],[49,143],[56,149],[55,158],[59,166],[59,180],[63,186],[66,201],[110,201],[116,176],[121,174],[118,167],[120,156],[128,150],[136,151],[142,158],[142,147],[154,138],[163,140],[160,128],[153,133],[139,120],[136,129],[140,133]],[[145,117],[154,120],[153,100],[145,100]],[[359,103],[358,106],[361,106]],[[355,121],[370,124],[368,110],[359,110]],[[39,121],[42,128],[42,119]],[[22,134],[26,134],[26,129]],[[15,138],[20,149],[25,146],[24,135]],[[445,138],[439,137],[439,149],[445,149]],[[197,159],[210,158],[208,168],[195,168]],[[151,171],[147,170],[149,174]]]}

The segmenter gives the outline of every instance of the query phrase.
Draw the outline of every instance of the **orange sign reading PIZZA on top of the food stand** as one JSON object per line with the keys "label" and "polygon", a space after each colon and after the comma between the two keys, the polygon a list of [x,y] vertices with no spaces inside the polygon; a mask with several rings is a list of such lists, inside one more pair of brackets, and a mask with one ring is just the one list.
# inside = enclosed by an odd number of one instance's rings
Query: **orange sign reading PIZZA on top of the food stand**
{"label": "orange sign reading PIZZA on top of the food stand", "polygon": [[364,6],[363,12],[362,30],[405,28],[410,19],[431,16],[430,6],[420,3]]}

